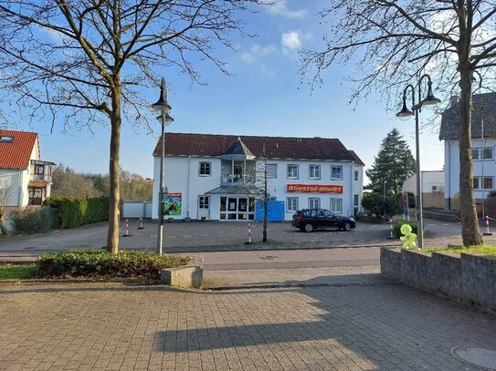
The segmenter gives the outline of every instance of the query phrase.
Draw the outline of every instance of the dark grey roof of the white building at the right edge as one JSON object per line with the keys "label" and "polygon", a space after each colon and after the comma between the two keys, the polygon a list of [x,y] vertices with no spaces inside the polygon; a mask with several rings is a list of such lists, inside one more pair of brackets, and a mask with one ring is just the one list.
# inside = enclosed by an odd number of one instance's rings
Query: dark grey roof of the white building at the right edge
{"label": "dark grey roof of the white building at the right edge", "polygon": [[[482,119],[484,120],[484,137],[496,137],[496,93],[474,94],[472,102],[471,135],[481,138]],[[453,101],[441,119],[439,140],[459,139],[459,104]]]}

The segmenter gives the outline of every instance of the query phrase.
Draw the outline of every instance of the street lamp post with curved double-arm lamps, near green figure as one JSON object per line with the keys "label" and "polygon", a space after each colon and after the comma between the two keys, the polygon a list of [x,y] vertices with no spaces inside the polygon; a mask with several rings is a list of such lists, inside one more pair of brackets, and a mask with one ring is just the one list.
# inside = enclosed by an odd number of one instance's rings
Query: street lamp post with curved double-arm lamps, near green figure
{"label": "street lamp post with curved double-arm lamps, near green figure", "polygon": [[[427,97],[423,100],[420,100],[422,97],[422,81],[427,78]],[[409,119],[410,117],[415,115],[415,147],[417,154],[417,235],[418,235],[418,247],[423,249],[424,247],[424,218],[422,216],[422,173],[420,171],[420,145],[418,142],[418,113],[424,106],[433,106],[437,105],[441,100],[434,97],[432,94],[432,81],[430,76],[427,74],[422,75],[418,78],[418,103],[416,103],[415,99],[415,88],[408,84],[403,90],[403,108],[401,111],[396,113],[396,117],[400,119]],[[406,107],[406,93],[408,89],[411,90],[412,93],[412,108],[411,110]],[[415,114],[414,114],[415,112]]]}

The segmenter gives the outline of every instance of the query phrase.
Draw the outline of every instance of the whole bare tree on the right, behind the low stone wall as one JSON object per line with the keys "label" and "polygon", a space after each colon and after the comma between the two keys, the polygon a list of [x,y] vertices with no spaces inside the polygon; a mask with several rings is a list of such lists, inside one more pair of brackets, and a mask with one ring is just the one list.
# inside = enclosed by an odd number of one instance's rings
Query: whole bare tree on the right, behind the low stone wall
{"label": "whole bare tree on the right, behind the low stone wall", "polygon": [[[459,90],[459,163],[462,237],[482,243],[472,184],[470,118],[472,80],[486,87],[495,80],[496,1],[494,0],[332,0],[322,12],[335,20],[322,51],[302,52],[302,70],[322,82],[322,71],[336,63],[355,64],[353,98],[371,91],[385,97],[423,71],[441,88]],[[359,70],[361,73],[356,74]],[[356,77],[358,76],[358,77]],[[398,99],[399,100],[399,99]]]}

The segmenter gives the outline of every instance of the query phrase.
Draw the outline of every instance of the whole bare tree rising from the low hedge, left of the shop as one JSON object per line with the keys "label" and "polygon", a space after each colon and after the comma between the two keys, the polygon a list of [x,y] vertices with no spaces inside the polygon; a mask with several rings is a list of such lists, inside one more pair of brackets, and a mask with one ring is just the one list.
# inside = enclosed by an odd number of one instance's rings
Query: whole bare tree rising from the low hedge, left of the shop
{"label": "whole bare tree rising from the low hedge, left of the shop", "polygon": [[[237,15],[260,0],[0,0],[0,88],[32,121],[60,117],[111,128],[107,249],[119,245],[122,119],[146,124],[140,88],[164,68],[200,82],[194,56],[228,74],[215,46],[234,48]],[[146,108],[148,110],[148,108]]]}

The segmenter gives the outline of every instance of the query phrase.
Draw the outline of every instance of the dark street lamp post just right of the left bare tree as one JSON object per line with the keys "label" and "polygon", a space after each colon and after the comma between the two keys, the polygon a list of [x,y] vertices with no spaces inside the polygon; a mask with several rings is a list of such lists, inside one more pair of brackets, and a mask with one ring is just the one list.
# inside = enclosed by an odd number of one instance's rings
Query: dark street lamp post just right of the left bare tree
{"label": "dark street lamp post just right of the left bare tree", "polygon": [[167,103],[167,89],[165,88],[164,78],[160,85],[160,98],[153,103],[152,108],[160,112],[160,116],[157,118],[161,122],[162,131],[160,136],[160,183],[159,183],[159,193],[158,193],[158,238],[157,238],[157,253],[162,253],[162,247],[164,244],[164,157],[165,157],[165,145],[164,145],[164,127],[169,125],[174,119],[169,116],[169,111],[172,107]]}

